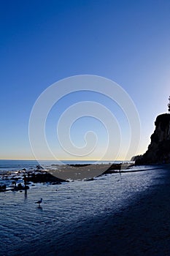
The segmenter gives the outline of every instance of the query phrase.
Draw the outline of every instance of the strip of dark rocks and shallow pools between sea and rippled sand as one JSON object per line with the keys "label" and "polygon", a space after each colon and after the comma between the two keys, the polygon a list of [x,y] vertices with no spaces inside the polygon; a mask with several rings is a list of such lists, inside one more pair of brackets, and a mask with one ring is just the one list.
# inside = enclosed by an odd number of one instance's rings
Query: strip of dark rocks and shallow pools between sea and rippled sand
{"label": "strip of dark rocks and shallow pools between sea and rippled sand", "polygon": [[[69,181],[91,181],[98,176],[104,176],[114,173],[136,173],[147,170],[163,169],[169,165],[141,165],[136,166],[128,163],[112,165],[93,165],[93,164],[72,164],[55,165],[56,169],[44,170],[38,166],[36,170],[4,171],[0,173],[0,192],[20,191],[29,189],[29,186],[36,184],[61,184]],[[24,176],[27,178],[26,185],[23,184]],[[15,183],[15,187],[12,186]],[[19,187],[18,187],[19,186]]]}

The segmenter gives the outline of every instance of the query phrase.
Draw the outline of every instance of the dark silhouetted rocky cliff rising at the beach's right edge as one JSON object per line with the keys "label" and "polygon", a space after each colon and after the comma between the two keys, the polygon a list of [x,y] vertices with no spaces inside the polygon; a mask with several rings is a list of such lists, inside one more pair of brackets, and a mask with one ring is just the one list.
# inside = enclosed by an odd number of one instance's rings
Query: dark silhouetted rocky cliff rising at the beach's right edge
{"label": "dark silhouetted rocky cliff rising at the beach's right edge", "polygon": [[156,118],[155,131],[146,153],[136,159],[136,165],[170,162],[170,114],[165,113]]}

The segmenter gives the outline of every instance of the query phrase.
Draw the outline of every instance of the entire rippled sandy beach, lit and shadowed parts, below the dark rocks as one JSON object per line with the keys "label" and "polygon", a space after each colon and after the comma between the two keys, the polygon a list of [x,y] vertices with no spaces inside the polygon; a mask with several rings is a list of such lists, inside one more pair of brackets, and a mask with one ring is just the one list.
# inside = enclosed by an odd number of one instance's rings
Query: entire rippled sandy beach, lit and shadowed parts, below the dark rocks
{"label": "entire rippled sandy beach, lit and shadowed parts, below the dark rocks", "polygon": [[170,255],[169,165],[138,168],[1,192],[0,255]]}

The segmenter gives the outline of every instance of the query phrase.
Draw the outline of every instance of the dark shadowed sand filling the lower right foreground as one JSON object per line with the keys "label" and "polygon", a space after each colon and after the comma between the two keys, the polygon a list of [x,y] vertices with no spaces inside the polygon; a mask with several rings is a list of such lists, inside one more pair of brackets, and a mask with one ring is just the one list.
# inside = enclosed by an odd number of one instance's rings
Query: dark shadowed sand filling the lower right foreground
{"label": "dark shadowed sand filling the lower right foreground", "polygon": [[[165,171],[167,169],[167,171]],[[55,240],[47,237],[34,255],[170,255],[170,173],[117,214],[92,218]],[[160,170],[161,171],[161,170]],[[29,255],[33,255],[28,249]],[[26,251],[25,251],[26,252]],[[26,254],[27,255],[27,254]]]}

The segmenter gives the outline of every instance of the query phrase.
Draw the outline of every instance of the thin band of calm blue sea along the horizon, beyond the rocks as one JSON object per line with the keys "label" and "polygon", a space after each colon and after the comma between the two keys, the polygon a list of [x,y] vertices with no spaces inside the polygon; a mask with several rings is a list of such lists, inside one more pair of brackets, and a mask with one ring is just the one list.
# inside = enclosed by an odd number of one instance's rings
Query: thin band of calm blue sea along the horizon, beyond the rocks
{"label": "thin band of calm blue sea along the horizon, beyond the rocks", "polygon": [[35,160],[0,160],[0,170],[21,170],[23,168],[31,169],[36,168],[37,165],[42,165],[43,167],[50,167],[53,165],[70,165],[70,164],[108,164],[108,163],[121,163],[120,161],[35,161]]}

